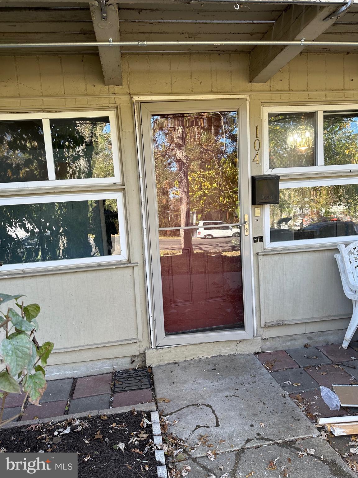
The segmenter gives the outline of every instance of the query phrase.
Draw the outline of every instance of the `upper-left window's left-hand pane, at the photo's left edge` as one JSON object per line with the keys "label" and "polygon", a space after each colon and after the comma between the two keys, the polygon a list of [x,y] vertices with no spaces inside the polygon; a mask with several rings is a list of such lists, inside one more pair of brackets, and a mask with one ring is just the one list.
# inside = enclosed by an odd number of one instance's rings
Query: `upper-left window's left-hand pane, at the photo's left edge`
{"label": "upper-left window's left-hand pane, at the photo's left edge", "polygon": [[42,120],[0,121],[0,183],[47,179]]}

